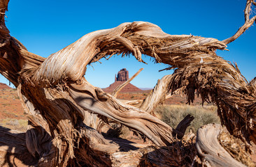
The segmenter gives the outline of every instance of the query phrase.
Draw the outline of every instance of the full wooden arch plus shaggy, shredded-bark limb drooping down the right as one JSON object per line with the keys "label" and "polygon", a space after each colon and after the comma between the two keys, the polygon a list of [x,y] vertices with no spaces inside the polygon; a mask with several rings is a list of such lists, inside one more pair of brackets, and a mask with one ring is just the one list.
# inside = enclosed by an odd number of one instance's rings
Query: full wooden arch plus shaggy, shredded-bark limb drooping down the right
{"label": "full wooden arch plus shaggy, shredded-bark limb drooping down the right", "polygon": [[[171,93],[185,93],[190,103],[197,91],[204,101],[218,105],[222,124],[227,125],[231,134],[249,141],[249,138],[256,137],[256,127],[252,126],[256,121],[253,115],[255,95],[248,89],[238,68],[215,54],[216,49],[225,47],[224,42],[214,38],[169,35],[159,26],[148,22],[125,23],[114,29],[95,31],[83,36],[46,58],[38,67],[23,70],[21,78],[32,86],[68,83],[79,87],[83,83],[87,64],[112,54],[134,54],[134,51],[140,51],[158,62],[170,65],[169,69],[176,68],[168,84]],[[86,94],[83,88],[77,90]],[[105,96],[105,100],[108,99],[108,95],[104,93],[97,97],[95,90],[92,88],[88,91],[93,95],[93,98],[90,97],[93,102],[102,101]],[[244,97],[246,98],[238,102],[238,99]],[[104,114],[108,115],[108,112]],[[241,122],[234,123],[237,120]],[[250,129],[244,127],[245,124]]]}

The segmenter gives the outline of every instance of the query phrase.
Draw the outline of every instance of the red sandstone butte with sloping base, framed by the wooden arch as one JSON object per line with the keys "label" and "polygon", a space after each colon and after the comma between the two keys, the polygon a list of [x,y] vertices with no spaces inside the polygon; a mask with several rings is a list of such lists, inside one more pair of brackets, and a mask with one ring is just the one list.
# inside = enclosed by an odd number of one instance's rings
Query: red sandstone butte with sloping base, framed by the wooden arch
{"label": "red sandstone butte with sloping base, framed by the wooden arch", "polygon": [[[125,83],[129,79],[129,72],[126,68],[123,68],[118,72],[118,76],[115,74],[115,82],[108,86],[108,88],[103,88],[104,92],[112,93],[116,87],[120,86],[121,84]],[[133,84],[127,84],[125,88],[122,88],[120,91],[121,93],[130,93],[130,92],[140,92],[141,89],[137,88]]]}

